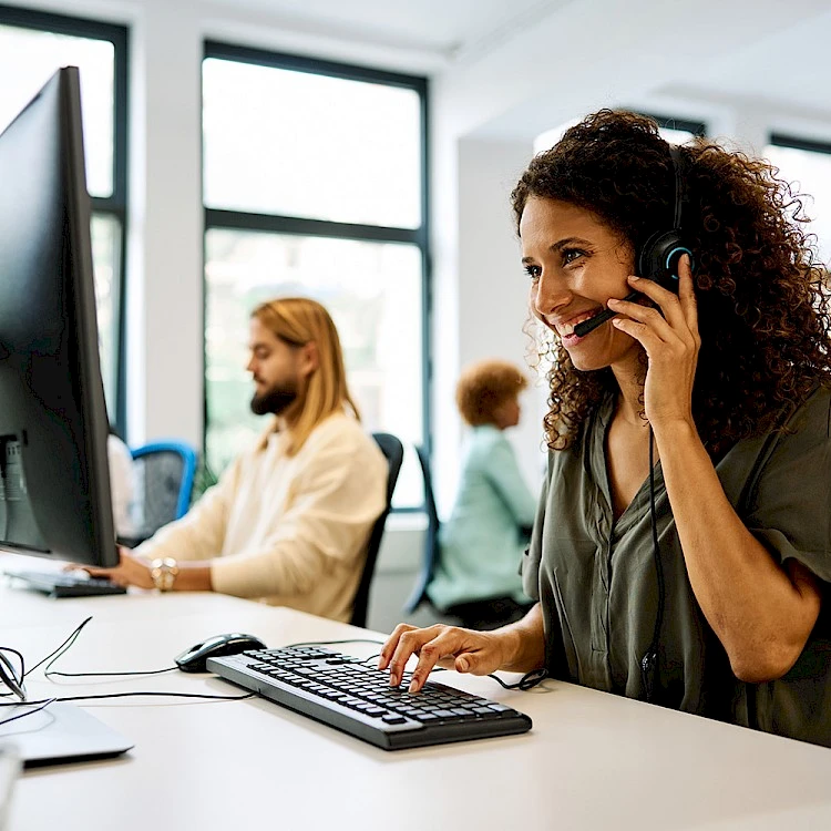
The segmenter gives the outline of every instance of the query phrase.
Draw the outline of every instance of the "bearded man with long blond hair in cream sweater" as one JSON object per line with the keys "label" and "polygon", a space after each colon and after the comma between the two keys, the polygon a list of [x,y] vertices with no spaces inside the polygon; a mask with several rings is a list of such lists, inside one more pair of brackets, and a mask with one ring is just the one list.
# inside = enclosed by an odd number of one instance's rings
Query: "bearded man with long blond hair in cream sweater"
{"label": "bearded man with long blond hair in cream sweater", "polygon": [[340,340],[315,300],[279,298],[250,318],[252,410],[263,438],[181,520],[114,568],[122,585],[215,591],[348,620],[387,460],[359,421]]}

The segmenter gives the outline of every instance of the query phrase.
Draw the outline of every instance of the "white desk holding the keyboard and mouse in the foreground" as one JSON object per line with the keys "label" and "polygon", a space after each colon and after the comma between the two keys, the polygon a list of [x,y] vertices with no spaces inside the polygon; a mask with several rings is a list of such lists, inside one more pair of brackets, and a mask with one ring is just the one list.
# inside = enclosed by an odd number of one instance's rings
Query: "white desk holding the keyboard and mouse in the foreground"
{"label": "white desk holding the keyboard and mouse in the foreground", "polygon": [[[372,636],[212,594],[52,601],[0,586],[2,643],[30,664],[89,614],[93,620],[55,668],[161,669],[187,646],[232,630],[269,646]],[[369,644],[340,648],[377,652]],[[35,696],[238,691],[212,676],[183,673],[61,679],[57,687],[39,671],[28,680]],[[523,710],[533,730],[386,752],[264,699],[90,702],[88,709],[135,748],[116,760],[24,772],[9,828],[831,828],[831,750],[556,681],[519,693],[489,678],[443,673],[441,680]]]}

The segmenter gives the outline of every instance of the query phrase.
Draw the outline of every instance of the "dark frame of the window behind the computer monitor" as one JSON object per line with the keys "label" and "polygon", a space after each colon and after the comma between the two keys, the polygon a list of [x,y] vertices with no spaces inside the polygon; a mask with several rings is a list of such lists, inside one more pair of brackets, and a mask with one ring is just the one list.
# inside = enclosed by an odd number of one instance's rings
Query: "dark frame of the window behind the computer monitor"
{"label": "dark frame of the window behind the computer monitor", "polygon": [[127,239],[127,89],[130,31],[127,27],[34,9],[0,4],[0,24],[31,29],[54,34],[65,34],[88,40],[105,40],[113,44],[113,189],[110,196],[90,196],[93,214],[114,217],[121,226],[121,245],[117,249],[117,277],[114,316],[117,326],[115,338],[115,401],[111,418],[119,433],[126,435],[126,239]]}

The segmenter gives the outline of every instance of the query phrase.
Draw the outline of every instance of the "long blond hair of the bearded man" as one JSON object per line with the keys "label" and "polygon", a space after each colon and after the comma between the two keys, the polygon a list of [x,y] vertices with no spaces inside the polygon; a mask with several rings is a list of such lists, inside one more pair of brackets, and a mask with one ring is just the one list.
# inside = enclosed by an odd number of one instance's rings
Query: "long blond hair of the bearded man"
{"label": "long blond hair of the bearded man", "polygon": [[293,346],[314,342],[318,367],[298,394],[298,417],[288,435],[289,455],[296,454],[311,431],[336,412],[351,411],[360,420],[349,393],[340,338],[329,312],[307,297],[280,297],[260,304],[252,312],[275,337]]}

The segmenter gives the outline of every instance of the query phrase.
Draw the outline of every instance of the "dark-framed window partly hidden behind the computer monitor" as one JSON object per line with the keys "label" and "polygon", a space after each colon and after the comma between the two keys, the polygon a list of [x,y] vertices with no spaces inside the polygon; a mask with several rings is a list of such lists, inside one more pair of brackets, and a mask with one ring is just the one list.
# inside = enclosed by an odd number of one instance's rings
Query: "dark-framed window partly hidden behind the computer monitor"
{"label": "dark-framed window partly hidden behind the computer monitor", "polygon": [[126,50],[122,27],[0,7],[0,131],[59,66],[80,70],[101,372],[110,419],[122,430],[119,366],[126,222]]}

